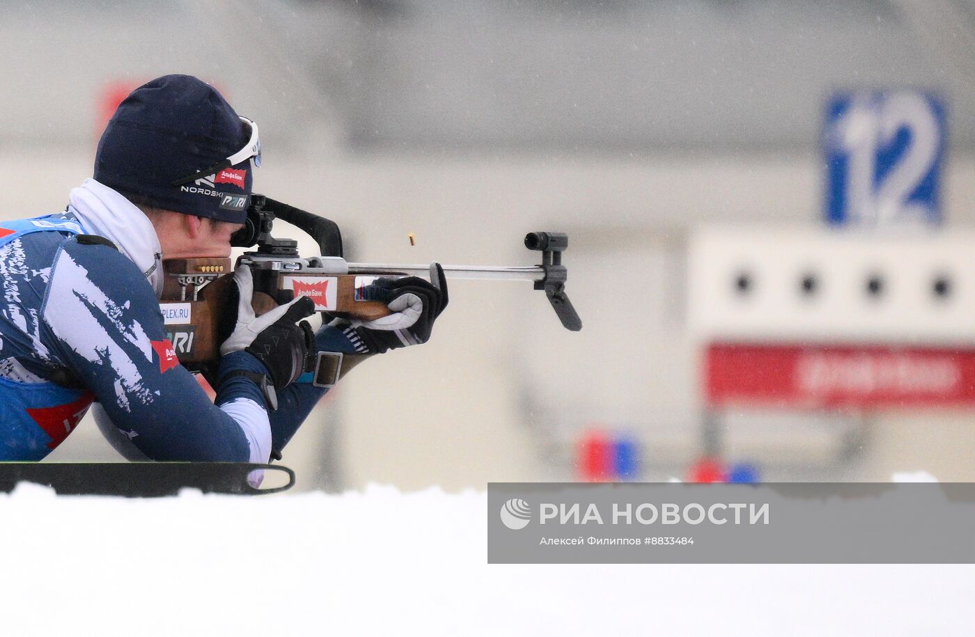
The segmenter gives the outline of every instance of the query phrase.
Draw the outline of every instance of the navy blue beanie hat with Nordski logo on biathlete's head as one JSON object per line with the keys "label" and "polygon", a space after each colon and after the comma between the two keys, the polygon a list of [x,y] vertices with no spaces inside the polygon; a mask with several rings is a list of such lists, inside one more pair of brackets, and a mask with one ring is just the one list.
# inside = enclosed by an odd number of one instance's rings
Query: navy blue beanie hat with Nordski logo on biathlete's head
{"label": "navy blue beanie hat with Nordski logo on biathlete's head", "polygon": [[214,87],[165,75],[119,105],[98,141],[94,176],[134,204],[244,223],[259,151],[256,126]]}

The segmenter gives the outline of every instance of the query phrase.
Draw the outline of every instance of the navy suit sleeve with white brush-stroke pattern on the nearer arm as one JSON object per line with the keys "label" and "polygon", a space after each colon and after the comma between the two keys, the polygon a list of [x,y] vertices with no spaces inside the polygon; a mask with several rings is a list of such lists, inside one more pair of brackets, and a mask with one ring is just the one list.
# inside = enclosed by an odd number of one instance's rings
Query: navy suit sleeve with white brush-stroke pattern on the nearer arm
{"label": "navy suit sleeve with white brush-stroke pattern on the nearer arm", "polygon": [[[178,363],[152,287],[113,247],[62,244],[42,312],[52,353],[148,458],[267,462],[260,390],[237,376],[211,402]],[[220,377],[234,369],[265,372],[244,352],[221,360]]]}

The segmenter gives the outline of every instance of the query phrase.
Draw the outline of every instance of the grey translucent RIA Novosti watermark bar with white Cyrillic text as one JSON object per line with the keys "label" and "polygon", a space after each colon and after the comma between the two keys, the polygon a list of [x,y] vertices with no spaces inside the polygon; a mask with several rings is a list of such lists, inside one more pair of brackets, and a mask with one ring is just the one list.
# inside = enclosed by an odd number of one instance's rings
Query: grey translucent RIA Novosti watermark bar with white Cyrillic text
{"label": "grey translucent RIA Novosti watermark bar with white Cyrillic text", "polygon": [[975,484],[491,483],[491,563],[975,563]]}

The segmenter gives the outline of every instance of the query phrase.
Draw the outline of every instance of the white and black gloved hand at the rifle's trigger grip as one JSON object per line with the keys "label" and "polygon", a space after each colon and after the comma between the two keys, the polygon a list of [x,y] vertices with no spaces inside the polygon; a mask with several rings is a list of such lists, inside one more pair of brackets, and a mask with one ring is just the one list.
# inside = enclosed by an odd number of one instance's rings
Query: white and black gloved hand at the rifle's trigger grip
{"label": "white and black gloved hand at the rifle's trigger grip", "polygon": [[[264,363],[275,389],[285,388],[310,366],[308,353],[315,351],[315,334],[307,320],[297,325],[294,322],[315,314],[315,302],[301,296],[255,317],[251,307],[254,296],[251,268],[238,266],[234,270],[234,282],[237,283],[237,322],[220,346],[220,356],[244,350]],[[231,303],[233,296],[231,293]]]}

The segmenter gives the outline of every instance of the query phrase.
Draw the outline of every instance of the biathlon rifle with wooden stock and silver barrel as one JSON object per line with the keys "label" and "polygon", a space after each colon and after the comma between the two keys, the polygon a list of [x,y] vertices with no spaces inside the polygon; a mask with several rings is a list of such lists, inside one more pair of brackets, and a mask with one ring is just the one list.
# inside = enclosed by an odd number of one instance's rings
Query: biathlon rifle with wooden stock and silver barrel
{"label": "biathlon rifle with wooden stock and silver barrel", "polygon": [[[322,253],[302,258],[296,241],[272,237],[275,218],[307,233]],[[255,251],[245,252],[239,263],[249,266],[254,274],[252,305],[258,316],[288,303],[295,295],[304,294],[327,319],[381,318],[390,312],[384,302],[371,297],[372,281],[379,277],[425,276],[429,271],[427,265],[348,263],[342,257],[342,236],[335,222],[256,194],[251,198],[244,227],[234,233],[230,243],[237,247],[257,247]],[[545,291],[566,329],[582,329],[582,321],[565,294],[567,271],[562,264],[562,253],[568,247],[568,237],[563,233],[533,232],[526,235],[525,245],[542,253],[541,264],[444,266],[444,274],[453,279],[533,281],[535,289]],[[219,345],[233,328],[227,311],[236,311],[227,307],[229,286],[235,284],[230,259],[167,259],[163,261],[163,270],[160,308],[176,356],[190,371],[202,372],[212,380]],[[332,356],[328,370],[323,367],[325,354]],[[339,375],[341,356],[320,353],[319,367],[315,384],[331,387]],[[348,368],[347,364],[346,371]],[[320,382],[322,378],[331,382]]]}

